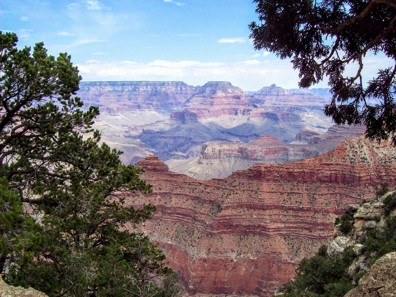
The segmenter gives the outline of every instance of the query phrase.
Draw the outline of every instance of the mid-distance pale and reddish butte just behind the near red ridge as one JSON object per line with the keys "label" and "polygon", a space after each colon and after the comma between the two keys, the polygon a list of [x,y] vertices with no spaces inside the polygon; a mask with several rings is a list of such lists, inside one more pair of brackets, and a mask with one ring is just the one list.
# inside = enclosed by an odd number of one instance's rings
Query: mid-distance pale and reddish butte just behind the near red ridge
{"label": "mid-distance pale and reddish butte just behind the near red ridge", "polygon": [[202,145],[198,158],[166,163],[172,171],[197,179],[223,178],[255,164],[279,164],[317,156],[364,131],[364,126],[332,126],[324,134],[301,130],[296,141],[288,145],[268,134],[248,143],[210,141]]}

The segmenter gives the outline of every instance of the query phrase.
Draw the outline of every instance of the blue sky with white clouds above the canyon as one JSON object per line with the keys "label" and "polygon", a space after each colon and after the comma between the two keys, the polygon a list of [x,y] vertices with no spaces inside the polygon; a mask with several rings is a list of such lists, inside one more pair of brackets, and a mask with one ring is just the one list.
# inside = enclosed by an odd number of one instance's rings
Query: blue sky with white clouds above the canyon
{"label": "blue sky with white clouds above the canyon", "polygon": [[[290,60],[255,51],[252,21],[252,0],[0,0],[0,30],[15,32],[18,48],[42,41],[50,55],[67,52],[83,81],[298,88]],[[368,58],[371,78],[384,57]]]}

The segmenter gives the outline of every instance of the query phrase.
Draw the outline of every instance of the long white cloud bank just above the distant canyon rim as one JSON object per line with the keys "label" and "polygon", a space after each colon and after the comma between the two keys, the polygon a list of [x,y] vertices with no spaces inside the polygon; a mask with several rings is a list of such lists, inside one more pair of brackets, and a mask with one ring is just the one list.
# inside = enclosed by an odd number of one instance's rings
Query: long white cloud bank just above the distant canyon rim
{"label": "long white cloud bank just above the distant canyon rim", "polygon": [[[81,68],[82,67],[82,68]],[[245,91],[257,91],[276,84],[297,88],[298,72],[289,60],[233,62],[165,61],[149,63],[132,61],[84,63],[79,65],[83,80],[182,80],[202,86],[209,80],[229,81]],[[317,86],[317,87],[326,87]]]}

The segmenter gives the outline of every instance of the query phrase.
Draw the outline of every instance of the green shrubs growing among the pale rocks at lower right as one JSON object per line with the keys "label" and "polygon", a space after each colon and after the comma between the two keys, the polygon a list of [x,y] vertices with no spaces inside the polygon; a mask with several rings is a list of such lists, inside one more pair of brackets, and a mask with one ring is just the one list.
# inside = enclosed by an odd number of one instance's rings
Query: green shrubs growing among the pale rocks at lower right
{"label": "green shrubs growing among the pale rocks at lower right", "polygon": [[[366,202],[364,201],[364,203]],[[388,195],[384,199],[384,203],[385,208],[388,209],[385,213],[384,226],[369,230],[366,236],[361,239],[362,253],[370,265],[373,265],[386,253],[396,251],[396,216],[391,214],[396,208],[396,193]],[[350,213],[344,213],[341,217],[336,218],[334,223],[335,225],[341,224],[340,229],[344,234],[352,230],[353,220]],[[348,268],[355,258],[356,253],[351,247],[333,257],[327,255],[326,246],[320,247],[314,257],[304,258],[301,261],[294,280],[282,288],[283,296],[344,296],[357,285],[358,280],[365,274],[365,272],[359,272],[355,276],[348,274]]]}

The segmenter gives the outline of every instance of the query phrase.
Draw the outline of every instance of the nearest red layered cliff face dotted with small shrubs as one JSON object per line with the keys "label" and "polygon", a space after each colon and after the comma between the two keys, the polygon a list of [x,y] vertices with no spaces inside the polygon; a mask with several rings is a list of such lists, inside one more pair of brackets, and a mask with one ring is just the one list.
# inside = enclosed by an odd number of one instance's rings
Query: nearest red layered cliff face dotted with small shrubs
{"label": "nearest red layered cliff face dotted with small shrubs", "polygon": [[330,242],[346,205],[374,196],[383,181],[396,184],[395,149],[364,139],[303,162],[209,181],[152,170],[150,159],[164,166],[153,157],[144,161],[142,177],[154,191],[127,203],[157,206],[140,228],[160,244],[189,293],[271,295],[304,256]]}

